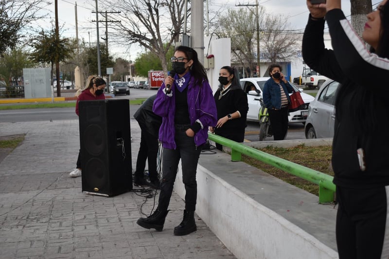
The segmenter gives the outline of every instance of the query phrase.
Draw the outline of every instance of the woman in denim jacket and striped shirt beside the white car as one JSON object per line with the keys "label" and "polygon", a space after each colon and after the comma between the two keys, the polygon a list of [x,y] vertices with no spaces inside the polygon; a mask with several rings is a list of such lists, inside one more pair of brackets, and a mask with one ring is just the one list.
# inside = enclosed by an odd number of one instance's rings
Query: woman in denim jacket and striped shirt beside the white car
{"label": "woman in denim jacket and striped shirt beside the white car", "polygon": [[269,113],[274,140],[283,140],[288,132],[289,93],[293,87],[289,85],[279,64],[269,66],[270,78],[264,85],[263,99]]}

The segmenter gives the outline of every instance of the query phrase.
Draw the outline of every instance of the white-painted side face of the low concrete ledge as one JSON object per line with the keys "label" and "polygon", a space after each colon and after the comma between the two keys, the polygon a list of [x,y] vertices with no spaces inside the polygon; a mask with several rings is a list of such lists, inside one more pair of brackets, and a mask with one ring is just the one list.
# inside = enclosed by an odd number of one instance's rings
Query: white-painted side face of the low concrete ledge
{"label": "white-painted side face of the low concrete ledge", "polygon": [[[184,199],[181,165],[174,186]],[[337,259],[333,249],[197,166],[196,214],[238,259]]]}

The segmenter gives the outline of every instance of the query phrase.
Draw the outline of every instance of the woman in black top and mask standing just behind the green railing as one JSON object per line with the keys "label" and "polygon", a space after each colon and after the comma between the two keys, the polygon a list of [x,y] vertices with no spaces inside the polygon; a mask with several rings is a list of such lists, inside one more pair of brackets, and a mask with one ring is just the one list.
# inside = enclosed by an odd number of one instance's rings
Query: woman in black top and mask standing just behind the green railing
{"label": "woman in black top and mask standing just behind the green railing", "polygon": [[[248,101],[247,94],[240,86],[239,72],[230,66],[222,67],[219,71],[219,83],[214,94],[218,121],[214,127],[210,127],[210,131],[221,137],[243,142]],[[222,150],[223,146],[216,143],[216,148]]]}

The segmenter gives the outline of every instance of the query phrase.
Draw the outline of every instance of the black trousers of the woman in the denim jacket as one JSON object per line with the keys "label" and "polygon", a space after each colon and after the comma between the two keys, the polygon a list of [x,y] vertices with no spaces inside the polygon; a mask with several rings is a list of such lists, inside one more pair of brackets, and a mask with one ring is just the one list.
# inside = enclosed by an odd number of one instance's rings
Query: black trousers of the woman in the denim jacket
{"label": "black trousers of the woman in the denim jacket", "polygon": [[274,140],[283,140],[288,132],[288,107],[280,110],[268,109]]}

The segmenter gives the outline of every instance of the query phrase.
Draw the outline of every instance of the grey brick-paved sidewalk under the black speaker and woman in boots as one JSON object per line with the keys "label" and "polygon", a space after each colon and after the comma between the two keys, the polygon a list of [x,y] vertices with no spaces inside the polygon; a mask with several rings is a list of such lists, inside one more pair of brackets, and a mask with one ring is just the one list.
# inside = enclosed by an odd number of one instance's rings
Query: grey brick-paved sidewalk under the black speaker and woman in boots
{"label": "grey brick-paved sidewalk under the black speaker and woman in boots", "polygon": [[[196,232],[173,235],[184,209],[175,193],[162,232],[136,224],[153,198],[82,193],[81,177],[69,177],[79,149],[77,120],[0,123],[0,137],[15,134],[25,140],[0,162],[1,259],[235,258],[198,216]],[[131,135],[135,168],[140,129],[134,119]]]}

